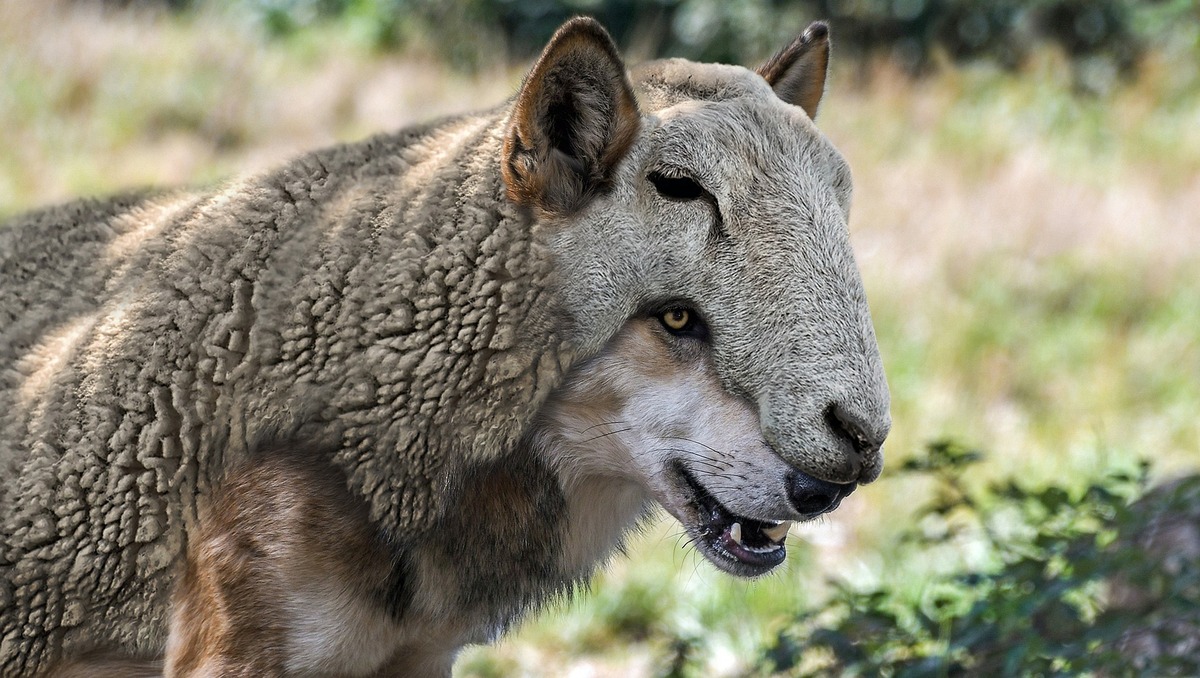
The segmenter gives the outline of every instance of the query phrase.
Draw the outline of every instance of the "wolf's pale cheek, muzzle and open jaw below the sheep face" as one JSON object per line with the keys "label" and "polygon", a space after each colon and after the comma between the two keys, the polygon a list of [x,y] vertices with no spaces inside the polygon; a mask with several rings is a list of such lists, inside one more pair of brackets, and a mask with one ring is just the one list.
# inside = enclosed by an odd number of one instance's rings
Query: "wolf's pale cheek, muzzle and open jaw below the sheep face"
{"label": "wolf's pale cheek, muzzle and open jaw below the sheep face", "polygon": [[[538,446],[569,502],[600,479],[624,482],[638,490],[635,504],[644,497],[664,506],[719,569],[756,577],[786,558],[793,521],[834,510],[854,487],[806,478],[829,497],[797,505],[788,486],[798,472],[762,440],[760,426],[755,409],[721,386],[702,341],[680,342],[659,320],[638,317],[568,376],[547,403]],[[572,522],[637,512],[575,504]]]}

